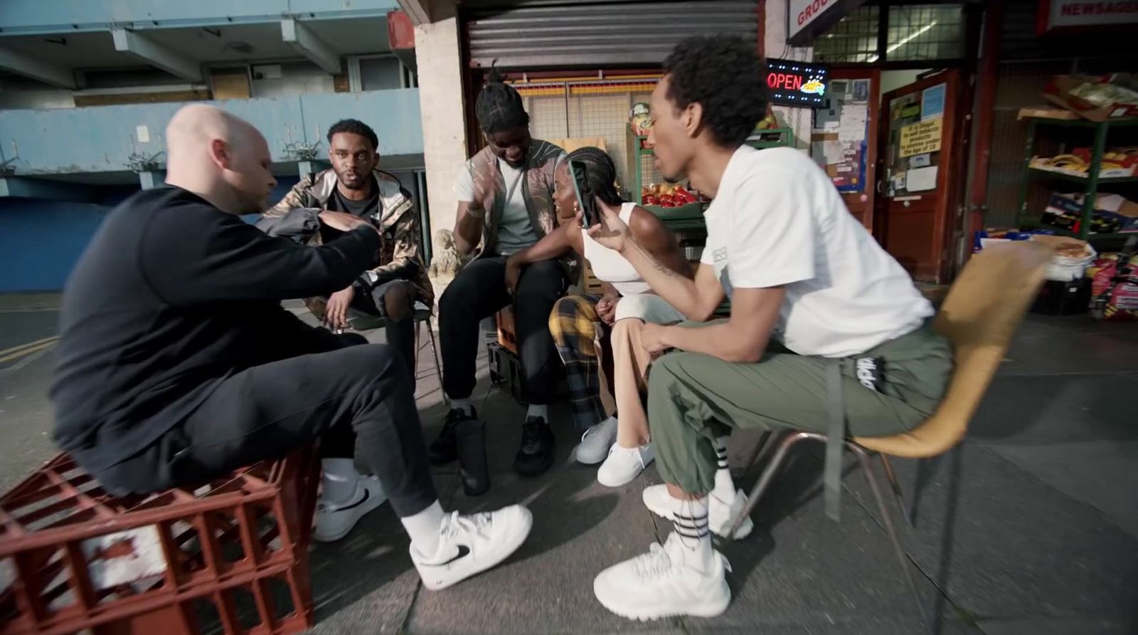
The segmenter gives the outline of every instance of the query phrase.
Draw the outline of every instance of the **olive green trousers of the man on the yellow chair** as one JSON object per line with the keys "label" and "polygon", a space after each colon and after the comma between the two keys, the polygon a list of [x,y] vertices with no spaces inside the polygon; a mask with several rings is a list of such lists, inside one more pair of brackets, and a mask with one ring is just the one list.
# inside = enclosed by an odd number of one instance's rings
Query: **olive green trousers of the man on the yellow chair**
{"label": "olive green trousers of the man on the yellow chair", "polygon": [[[881,391],[874,391],[858,382],[852,363],[843,365],[847,431],[852,436],[884,437],[915,428],[940,403],[953,372],[948,340],[929,325],[858,357],[882,358],[883,381]],[[825,434],[826,368],[832,363],[770,351],[753,364],[699,353],[663,355],[649,371],[648,390],[648,420],[660,476],[688,494],[704,494],[715,487],[712,439],[731,429]]]}

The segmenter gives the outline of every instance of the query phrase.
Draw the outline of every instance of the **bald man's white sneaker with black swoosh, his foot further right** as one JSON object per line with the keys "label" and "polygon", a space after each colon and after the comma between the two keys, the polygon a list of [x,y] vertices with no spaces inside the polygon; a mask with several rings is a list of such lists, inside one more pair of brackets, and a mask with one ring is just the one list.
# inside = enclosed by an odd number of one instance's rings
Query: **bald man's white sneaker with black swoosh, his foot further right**
{"label": "bald man's white sneaker with black swoosh, his foot further right", "polygon": [[446,588],[509,558],[526,542],[533,526],[534,514],[521,505],[472,516],[453,512],[439,528],[438,551],[428,558],[412,543],[411,561],[423,586]]}

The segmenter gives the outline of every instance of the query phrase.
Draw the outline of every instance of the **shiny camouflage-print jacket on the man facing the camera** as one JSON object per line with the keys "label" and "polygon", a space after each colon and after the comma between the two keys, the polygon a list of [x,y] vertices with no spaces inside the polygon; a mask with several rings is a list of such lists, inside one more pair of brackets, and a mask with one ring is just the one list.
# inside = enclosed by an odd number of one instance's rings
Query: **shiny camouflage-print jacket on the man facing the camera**
{"label": "shiny camouflage-print jacket on the man facing the camera", "polygon": [[[418,298],[427,306],[434,306],[435,290],[427,278],[427,267],[419,255],[419,213],[411,192],[399,185],[399,181],[379,170],[372,172],[379,184],[380,213],[371,218],[380,230],[382,245],[371,269],[372,277],[360,277],[358,286],[371,289],[388,280],[411,281],[418,289]],[[257,222],[257,226],[271,236],[299,238],[307,245],[320,245],[320,211],[328,208],[328,199],[336,188],[336,172],[325,170],[310,174],[292,187],[277,205],[269,208]],[[311,307],[311,300],[305,304]]]}

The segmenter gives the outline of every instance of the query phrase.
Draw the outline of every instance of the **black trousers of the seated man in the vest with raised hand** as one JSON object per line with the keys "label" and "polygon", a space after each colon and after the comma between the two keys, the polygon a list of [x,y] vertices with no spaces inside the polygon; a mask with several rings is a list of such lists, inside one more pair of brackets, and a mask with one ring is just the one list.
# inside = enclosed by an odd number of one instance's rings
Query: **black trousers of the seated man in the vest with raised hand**
{"label": "black trousers of the seated man in the vest with raised hand", "polygon": [[465,266],[438,300],[438,335],[443,346],[443,388],[454,399],[475,389],[478,323],[511,302],[518,332],[518,355],[526,374],[523,395],[530,404],[553,397],[561,361],[550,335],[550,312],[569,281],[556,261],[534,263],[521,272],[514,297],[505,287],[505,257],[486,256]]}

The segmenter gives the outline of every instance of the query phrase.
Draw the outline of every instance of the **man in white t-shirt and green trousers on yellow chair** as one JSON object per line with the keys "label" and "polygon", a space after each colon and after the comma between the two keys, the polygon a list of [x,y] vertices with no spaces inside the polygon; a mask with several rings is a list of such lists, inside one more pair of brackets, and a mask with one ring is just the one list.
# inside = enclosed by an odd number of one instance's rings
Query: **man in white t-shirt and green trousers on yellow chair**
{"label": "man in white t-shirt and green trousers on yellow chair", "polygon": [[[644,347],[663,354],[648,412],[666,483],[644,503],[675,533],[596,577],[597,599],[626,617],[726,610],[726,561],[709,534],[729,533],[747,503],[723,451],[732,428],[831,434],[836,420],[838,438],[846,426],[899,434],[932,413],[951,372],[947,340],[927,327],[932,306],[825,172],[795,149],[744,145],[767,109],[764,77],[753,43],[693,38],[652,93],[657,167],[715,199],[694,281],[654,262],[619,217],[591,230],[692,321],[644,328]],[[706,322],[724,298],[731,318]]]}

